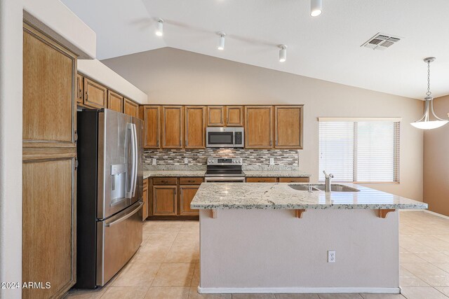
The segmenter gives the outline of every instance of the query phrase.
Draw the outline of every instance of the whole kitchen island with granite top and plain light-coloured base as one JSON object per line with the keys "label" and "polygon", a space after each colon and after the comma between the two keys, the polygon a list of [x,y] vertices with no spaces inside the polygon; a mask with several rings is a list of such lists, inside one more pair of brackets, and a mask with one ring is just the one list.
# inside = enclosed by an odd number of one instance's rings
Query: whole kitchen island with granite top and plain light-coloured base
{"label": "whole kitchen island with granite top and plain light-coloured base", "polygon": [[322,187],[202,183],[199,293],[400,293],[398,210],[427,204]]}

